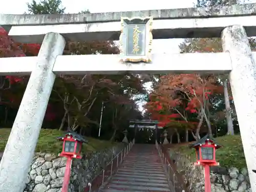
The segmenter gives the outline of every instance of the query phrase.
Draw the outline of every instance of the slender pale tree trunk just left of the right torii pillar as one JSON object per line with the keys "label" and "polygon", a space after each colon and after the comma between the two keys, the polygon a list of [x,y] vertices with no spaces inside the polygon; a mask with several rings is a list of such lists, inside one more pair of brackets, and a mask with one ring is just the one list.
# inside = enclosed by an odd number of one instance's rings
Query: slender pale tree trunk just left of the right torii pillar
{"label": "slender pale tree trunk just left of the right torii pillar", "polygon": [[224,99],[225,99],[225,108],[226,108],[226,120],[227,120],[227,135],[234,135],[234,127],[231,116],[231,108],[229,103],[228,89],[227,89],[227,79],[223,81],[224,87]]}

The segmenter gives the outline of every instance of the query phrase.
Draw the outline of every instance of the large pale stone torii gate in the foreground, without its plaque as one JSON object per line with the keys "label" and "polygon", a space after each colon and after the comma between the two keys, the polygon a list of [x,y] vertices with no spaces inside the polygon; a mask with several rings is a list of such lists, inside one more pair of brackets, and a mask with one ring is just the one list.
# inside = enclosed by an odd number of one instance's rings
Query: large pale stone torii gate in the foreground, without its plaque
{"label": "large pale stone torii gate in the foreground, without its plaque", "polygon": [[[30,75],[0,163],[0,192],[21,192],[56,74],[230,73],[251,183],[256,192],[256,4],[215,9],[95,14],[5,15],[0,25],[17,42],[41,43],[37,57],[0,58],[0,75]],[[120,17],[152,16],[155,39],[221,37],[223,53],[154,54],[150,63],[120,62],[119,55],[65,55],[66,41],[118,40]],[[72,63],[72,65],[70,65]],[[109,63],[109,65],[108,65]]]}

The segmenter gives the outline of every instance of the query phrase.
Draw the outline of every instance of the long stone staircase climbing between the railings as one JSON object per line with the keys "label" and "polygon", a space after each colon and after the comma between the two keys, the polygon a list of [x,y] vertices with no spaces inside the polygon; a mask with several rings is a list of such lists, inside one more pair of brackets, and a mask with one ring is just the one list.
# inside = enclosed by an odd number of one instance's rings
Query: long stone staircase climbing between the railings
{"label": "long stone staircase climbing between the railings", "polygon": [[155,145],[135,144],[102,192],[170,192]]}

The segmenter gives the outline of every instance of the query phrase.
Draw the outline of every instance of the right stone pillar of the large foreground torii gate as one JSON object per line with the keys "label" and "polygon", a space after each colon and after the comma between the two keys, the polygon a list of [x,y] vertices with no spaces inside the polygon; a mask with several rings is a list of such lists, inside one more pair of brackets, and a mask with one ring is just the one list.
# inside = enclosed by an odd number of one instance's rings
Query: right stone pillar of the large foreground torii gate
{"label": "right stone pillar of the large foreground torii gate", "polygon": [[230,54],[230,83],[238,116],[251,190],[256,192],[256,65],[245,29],[234,25],[222,32],[223,51]]}

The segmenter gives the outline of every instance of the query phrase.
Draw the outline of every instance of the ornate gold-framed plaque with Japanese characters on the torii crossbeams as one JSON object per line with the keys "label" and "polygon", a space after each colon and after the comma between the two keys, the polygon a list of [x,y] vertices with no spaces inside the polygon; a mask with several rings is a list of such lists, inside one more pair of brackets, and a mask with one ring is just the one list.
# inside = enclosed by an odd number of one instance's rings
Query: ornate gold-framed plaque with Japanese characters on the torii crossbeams
{"label": "ornate gold-framed plaque with Japanese characters on the torii crossbeams", "polygon": [[150,62],[153,17],[121,17],[121,61]]}

